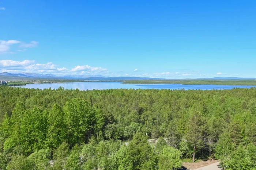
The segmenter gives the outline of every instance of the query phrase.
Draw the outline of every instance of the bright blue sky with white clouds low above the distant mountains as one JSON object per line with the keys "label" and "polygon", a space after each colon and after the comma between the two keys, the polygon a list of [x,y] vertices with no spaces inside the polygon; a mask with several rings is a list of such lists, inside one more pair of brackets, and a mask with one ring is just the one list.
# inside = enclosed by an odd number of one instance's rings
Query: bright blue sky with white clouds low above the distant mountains
{"label": "bright blue sky with white clouds low above the distant mountains", "polygon": [[0,0],[0,72],[256,77],[256,1]]}

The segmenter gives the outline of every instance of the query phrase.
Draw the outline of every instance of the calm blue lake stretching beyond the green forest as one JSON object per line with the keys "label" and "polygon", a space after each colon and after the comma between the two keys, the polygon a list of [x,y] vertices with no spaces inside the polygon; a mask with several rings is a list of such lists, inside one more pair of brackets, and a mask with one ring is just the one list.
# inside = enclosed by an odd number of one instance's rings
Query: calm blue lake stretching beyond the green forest
{"label": "calm blue lake stretching beyond the green forest", "polygon": [[120,82],[66,82],[66,83],[51,83],[51,84],[27,84],[25,86],[17,86],[24,88],[38,89],[233,89],[233,88],[251,88],[256,86],[236,86],[236,85],[182,85],[182,84],[121,84]]}

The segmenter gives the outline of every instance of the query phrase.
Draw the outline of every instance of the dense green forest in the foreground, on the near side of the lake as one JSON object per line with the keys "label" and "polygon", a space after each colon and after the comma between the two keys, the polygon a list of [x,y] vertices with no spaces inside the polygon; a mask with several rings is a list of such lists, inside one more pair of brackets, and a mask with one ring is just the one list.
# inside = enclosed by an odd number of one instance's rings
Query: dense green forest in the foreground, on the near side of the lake
{"label": "dense green forest in the foreground, on the near side of the lake", "polygon": [[256,169],[255,88],[2,86],[0,96],[1,170],[178,170],[193,156]]}

